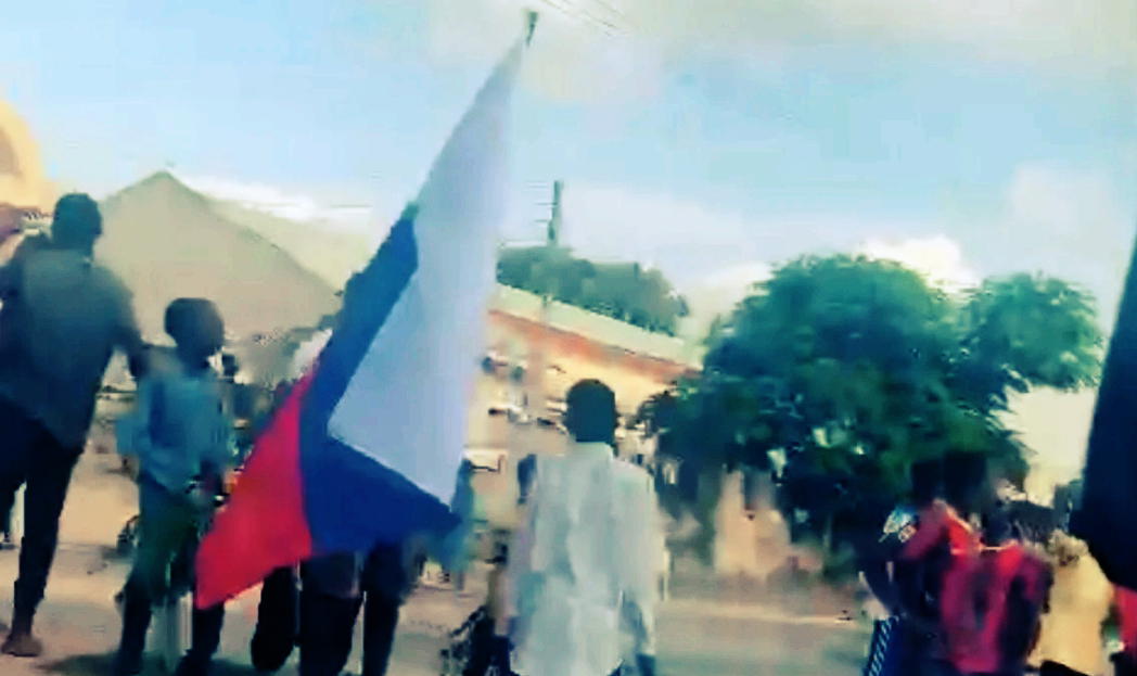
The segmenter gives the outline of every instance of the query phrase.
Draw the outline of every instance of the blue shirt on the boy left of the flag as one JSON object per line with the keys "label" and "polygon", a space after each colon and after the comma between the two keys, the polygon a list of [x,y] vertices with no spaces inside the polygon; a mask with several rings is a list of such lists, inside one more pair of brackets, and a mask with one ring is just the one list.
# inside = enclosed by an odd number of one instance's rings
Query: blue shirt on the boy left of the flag
{"label": "blue shirt on the boy left of the flag", "polygon": [[204,473],[234,459],[233,423],[221,381],[208,369],[158,371],[139,385],[138,406],[118,423],[118,450],[139,459],[140,473],[183,493]]}

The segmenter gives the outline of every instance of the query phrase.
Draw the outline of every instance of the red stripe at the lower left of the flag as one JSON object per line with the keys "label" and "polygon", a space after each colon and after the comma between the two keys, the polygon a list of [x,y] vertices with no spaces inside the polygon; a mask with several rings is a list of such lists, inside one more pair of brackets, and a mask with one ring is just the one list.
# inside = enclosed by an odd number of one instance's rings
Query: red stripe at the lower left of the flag
{"label": "red stripe at the lower left of the flag", "polygon": [[257,438],[229,504],[201,542],[198,608],[227,601],[276,568],[312,555],[300,473],[300,412],[314,372],[296,384]]}

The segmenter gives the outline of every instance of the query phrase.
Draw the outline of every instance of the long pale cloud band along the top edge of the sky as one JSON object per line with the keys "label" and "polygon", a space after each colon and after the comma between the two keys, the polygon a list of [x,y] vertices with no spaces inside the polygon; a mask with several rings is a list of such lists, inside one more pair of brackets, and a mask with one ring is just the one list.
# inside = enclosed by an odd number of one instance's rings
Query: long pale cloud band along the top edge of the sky
{"label": "long pale cloud band along the top edge of the sky", "polygon": [[[528,0],[431,0],[434,57],[489,60],[520,32]],[[1137,72],[1131,0],[546,0],[529,80],[557,97],[655,91],[691,56],[777,67],[827,44],[957,48],[1048,69]]]}

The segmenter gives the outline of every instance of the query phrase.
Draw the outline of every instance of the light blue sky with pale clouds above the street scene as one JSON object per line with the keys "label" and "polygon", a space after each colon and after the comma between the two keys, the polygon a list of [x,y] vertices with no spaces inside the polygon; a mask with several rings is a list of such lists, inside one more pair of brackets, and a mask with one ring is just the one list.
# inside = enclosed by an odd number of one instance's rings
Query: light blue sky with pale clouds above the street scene
{"label": "light blue sky with pale clouds above the street scene", "polygon": [[[684,288],[922,239],[960,269],[1043,269],[1112,303],[1137,222],[1131,2],[559,3],[575,9],[546,8],[516,101],[509,237],[545,200],[532,184],[564,178],[571,244]],[[520,26],[509,0],[13,5],[0,98],[64,184],[172,164],[376,219]]]}

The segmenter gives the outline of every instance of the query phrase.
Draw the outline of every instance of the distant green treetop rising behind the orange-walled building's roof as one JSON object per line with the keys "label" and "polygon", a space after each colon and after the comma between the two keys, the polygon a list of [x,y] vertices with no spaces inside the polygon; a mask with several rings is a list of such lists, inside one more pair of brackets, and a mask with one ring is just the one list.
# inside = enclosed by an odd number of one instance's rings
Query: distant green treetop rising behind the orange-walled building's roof
{"label": "distant green treetop rising behind the orange-walled building's roof", "polygon": [[505,249],[498,281],[649,331],[675,335],[687,303],[658,270],[636,263],[592,263],[559,247]]}

